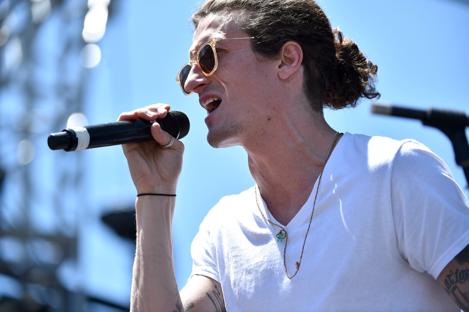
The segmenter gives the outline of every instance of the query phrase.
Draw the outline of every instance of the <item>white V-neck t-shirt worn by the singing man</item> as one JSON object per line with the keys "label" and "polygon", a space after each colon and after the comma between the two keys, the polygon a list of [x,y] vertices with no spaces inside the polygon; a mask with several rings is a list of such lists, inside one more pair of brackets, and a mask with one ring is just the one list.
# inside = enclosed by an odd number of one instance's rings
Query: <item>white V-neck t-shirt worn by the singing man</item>
{"label": "white V-neck t-shirt worn by the singing man", "polygon": [[[286,226],[290,275],[317,186]],[[278,230],[254,188],[223,197],[192,243],[192,275],[220,282],[228,312],[460,311],[435,279],[469,244],[468,202],[446,164],[416,141],[343,135],[291,280]]]}

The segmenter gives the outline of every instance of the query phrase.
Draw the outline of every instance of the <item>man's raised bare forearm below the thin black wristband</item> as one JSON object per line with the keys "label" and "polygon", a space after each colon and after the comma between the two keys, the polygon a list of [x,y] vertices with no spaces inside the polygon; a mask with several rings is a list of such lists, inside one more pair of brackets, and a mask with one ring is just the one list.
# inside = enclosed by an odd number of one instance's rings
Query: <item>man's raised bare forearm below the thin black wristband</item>
{"label": "man's raised bare forearm below the thin black wristband", "polygon": [[131,311],[182,311],[174,276],[172,221],[175,198],[140,196]]}

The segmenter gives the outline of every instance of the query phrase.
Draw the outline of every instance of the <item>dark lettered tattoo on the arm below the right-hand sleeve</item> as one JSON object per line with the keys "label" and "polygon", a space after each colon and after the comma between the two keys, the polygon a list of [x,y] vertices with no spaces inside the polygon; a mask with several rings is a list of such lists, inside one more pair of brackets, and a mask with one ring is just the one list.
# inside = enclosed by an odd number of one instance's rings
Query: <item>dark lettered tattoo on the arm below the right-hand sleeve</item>
{"label": "dark lettered tattoo on the arm below the right-hand sleeve", "polygon": [[[459,264],[469,262],[469,245],[464,248],[461,253],[454,257]],[[458,285],[465,284],[469,281],[469,269],[458,267],[454,271],[450,270],[445,278],[445,290],[448,294],[454,296],[454,301],[464,311],[469,311],[469,292],[463,292]],[[467,287],[467,285],[465,285]]]}

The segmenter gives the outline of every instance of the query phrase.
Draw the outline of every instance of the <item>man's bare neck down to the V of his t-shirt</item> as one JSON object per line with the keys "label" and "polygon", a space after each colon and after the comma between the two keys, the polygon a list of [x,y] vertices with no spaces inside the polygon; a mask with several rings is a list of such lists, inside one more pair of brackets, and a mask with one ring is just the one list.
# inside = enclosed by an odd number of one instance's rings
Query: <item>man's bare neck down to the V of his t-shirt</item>
{"label": "man's bare neck down to the V of his t-shirt", "polygon": [[244,147],[267,208],[286,225],[308,200],[336,131],[322,116],[311,121],[300,113],[278,120],[265,133],[263,140]]}

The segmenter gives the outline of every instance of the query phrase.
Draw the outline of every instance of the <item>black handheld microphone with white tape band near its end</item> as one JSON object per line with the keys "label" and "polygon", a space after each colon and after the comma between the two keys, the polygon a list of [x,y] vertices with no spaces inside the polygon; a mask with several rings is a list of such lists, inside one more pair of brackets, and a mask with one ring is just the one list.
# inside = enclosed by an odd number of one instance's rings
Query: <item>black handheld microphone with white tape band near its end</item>
{"label": "black handheld microphone with white tape band near its end", "polygon": [[119,145],[131,142],[154,141],[151,136],[151,124],[157,122],[161,129],[176,139],[182,139],[189,133],[189,118],[181,111],[168,111],[164,118],[153,121],[132,119],[91,126],[67,128],[53,133],[47,138],[47,145],[52,150],[93,149],[102,146]]}

